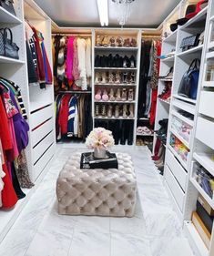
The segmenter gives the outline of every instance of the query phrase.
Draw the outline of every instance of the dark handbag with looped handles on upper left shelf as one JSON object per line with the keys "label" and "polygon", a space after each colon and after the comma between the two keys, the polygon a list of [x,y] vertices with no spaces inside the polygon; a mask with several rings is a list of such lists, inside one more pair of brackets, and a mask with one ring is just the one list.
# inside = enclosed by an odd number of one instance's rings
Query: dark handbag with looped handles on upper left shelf
{"label": "dark handbag with looped handles on upper left shelf", "polygon": [[[7,32],[10,38],[7,37]],[[19,47],[13,42],[13,33],[10,28],[2,28],[0,30],[0,56],[6,56],[18,59]]]}

